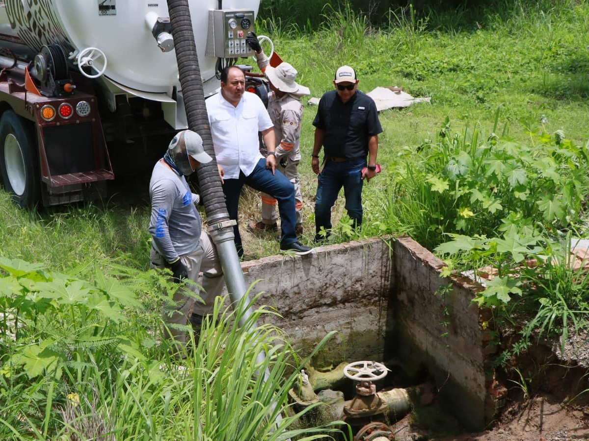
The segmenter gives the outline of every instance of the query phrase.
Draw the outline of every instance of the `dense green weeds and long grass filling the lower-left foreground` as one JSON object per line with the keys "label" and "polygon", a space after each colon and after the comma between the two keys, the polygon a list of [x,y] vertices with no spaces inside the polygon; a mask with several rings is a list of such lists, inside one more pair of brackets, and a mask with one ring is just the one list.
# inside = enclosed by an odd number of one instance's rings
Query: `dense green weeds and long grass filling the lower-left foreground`
{"label": "dense green weeds and long grass filling the lower-left foreground", "polygon": [[[234,309],[219,299],[200,336],[185,327],[180,359],[117,279],[18,259],[0,269],[2,292],[14,293],[0,303],[1,439],[312,440],[344,427],[292,429],[312,408],[290,411],[288,391],[315,352],[300,360],[280,329],[256,325],[272,311],[244,316],[247,297]],[[133,278],[173,288],[153,271]]]}

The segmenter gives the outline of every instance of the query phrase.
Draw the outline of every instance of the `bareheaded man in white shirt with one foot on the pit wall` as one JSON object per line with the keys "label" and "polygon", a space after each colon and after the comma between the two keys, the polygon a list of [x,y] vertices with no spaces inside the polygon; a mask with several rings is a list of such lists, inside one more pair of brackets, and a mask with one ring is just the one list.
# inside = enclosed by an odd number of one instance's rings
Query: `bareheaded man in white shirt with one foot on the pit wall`
{"label": "bareheaded man in white shirt with one foot on the pit wall", "polygon": [[[241,187],[271,195],[278,201],[282,237],[280,250],[297,255],[311,252],[294,232],[296,211],[294,185],[276,171],[274,125],[262,100],[254,93],[244,93],[246,80],[237,66],[221,71],[221,92],[207,99],[207,113],[229,218],[237,220]],[[266,159],[259,151],[258,132],[268,148]],[[234,226],[237,254],[243,256],[239,225]]]}

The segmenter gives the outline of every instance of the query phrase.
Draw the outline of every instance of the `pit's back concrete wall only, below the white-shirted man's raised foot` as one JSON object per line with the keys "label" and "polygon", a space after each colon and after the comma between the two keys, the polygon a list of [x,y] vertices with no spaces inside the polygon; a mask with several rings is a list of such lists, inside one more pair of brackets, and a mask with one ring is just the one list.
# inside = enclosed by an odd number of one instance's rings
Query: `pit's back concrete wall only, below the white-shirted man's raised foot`
{"label": "pit's back concrete wall only, below the white-shirted man's raised foot", "polygon": [[248,285],[263,292],[259,305],[302,353],[332,330],[332,339],[313,360],[336,366],[345,360],[382,360],[391,292],[389,242],[380,239],[315,248],[306,256],[270,256],[243,262]]}

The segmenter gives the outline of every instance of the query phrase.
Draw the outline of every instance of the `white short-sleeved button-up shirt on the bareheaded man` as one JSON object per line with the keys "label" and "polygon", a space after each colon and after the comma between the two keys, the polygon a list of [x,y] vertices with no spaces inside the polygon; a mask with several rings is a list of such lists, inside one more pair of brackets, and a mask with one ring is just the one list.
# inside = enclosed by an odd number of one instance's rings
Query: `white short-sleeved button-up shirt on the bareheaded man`
{"label": "white short-sleeved button-up shirt on the bareheaded man", "polygon": [[262,100],[244,92],[237,107],[221,92],[206,101],[217,163],[223,167],[224,179],[239,178],[239,171],[249,176],[263,158],[258,132],[273,127]]}

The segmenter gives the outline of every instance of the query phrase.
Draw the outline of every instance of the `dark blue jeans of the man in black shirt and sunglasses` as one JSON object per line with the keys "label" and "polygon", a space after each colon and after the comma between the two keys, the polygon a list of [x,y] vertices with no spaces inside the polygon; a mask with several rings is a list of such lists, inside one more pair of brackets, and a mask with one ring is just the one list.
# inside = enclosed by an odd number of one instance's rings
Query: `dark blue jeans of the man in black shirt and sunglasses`
{"label": "dark blue jeans of the man in black shirt and sunglasses", "polygon": [[362,169],[366,158],[335,162],[327,159],[323,171],[317,176],[317,195],[315,196],[315,239],[320,239],[321,227],[332,228],[331,209],[337,194],[343,187],[346,198],[346,211],[356,227],[362,225]]}

